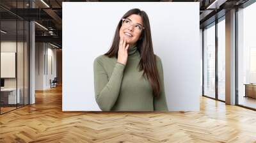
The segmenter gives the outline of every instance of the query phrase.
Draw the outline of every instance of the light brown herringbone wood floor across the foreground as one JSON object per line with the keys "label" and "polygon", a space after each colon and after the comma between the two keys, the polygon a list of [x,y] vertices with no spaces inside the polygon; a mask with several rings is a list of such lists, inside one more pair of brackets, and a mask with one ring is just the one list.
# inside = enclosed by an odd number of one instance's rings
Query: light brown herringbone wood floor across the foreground
{"label": "light brown herringbone wood floor across the foreground", "polygon": [[256,142],[256,112],[200,99],[200,112],[62,112],[61,87],[0,116],[0,142]]}

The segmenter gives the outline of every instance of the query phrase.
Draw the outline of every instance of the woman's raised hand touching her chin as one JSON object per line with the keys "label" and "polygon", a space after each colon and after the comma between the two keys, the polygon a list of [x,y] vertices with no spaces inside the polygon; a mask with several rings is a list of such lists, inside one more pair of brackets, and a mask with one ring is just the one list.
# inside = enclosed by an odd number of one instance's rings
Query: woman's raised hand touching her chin
{"label": "woman's raised hand touching her chin", "polygon": [[129,44],[126,45],[125,38],[121,37],[119,41],[119,49],[118,49],[118,57],[117,57],[118,63],[122,63],[124,65],[127,63],[128,48],[129,48]]}

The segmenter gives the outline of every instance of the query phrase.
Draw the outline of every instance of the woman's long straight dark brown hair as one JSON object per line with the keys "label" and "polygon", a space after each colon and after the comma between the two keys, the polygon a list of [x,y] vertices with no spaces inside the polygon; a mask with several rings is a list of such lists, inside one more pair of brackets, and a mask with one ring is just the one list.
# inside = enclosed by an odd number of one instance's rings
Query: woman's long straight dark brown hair
{"label": "woman's long straight dark brown hair", "polygon": [[[143,76],[145,77],[146,75],[148,81],[150,82],[150,85],[152,86],[152,89],[153,89],[154,96],[159,97],[159,94],[160,94],[159,74],[157,72],[156,57],[153,51],[148,15],[147,13],[145,13],[145,11],[141,11],[138,8],[134,8],[127,11],[127,13],[124,14],[122,19],[126,19],[132,14],[140,15],[141,18],[143,19],[143,24],[145,27],[145,29],[141,31],[141,36],[136,43],[136,46],[138,48],[138,51],[141,57],[140,63],[139,63],[140,71],[143,70]],[[121,26],[122,26],[122,20],[120,20],[120,22],[118,23],[118,26],[116,27],[115,36],[114,36],[111,48],[104,55],[108,57],[113,57],[113,56],[115,56],[116,58],[118,57],[118,49],[119,49],[119,41],[120,41],[119,31]]]}

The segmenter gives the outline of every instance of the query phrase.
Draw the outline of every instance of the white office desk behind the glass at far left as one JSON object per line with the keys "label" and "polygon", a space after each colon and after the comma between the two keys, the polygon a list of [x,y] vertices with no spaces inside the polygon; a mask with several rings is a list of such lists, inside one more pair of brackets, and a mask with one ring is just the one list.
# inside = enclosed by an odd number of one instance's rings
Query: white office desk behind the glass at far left
{"label": "white office desk behind the glass at far left", "polygon": [[1,89],[1,102],[4,104],[20,103],[20,89],[17,88],[18,94],[16,98],[16,88]]}

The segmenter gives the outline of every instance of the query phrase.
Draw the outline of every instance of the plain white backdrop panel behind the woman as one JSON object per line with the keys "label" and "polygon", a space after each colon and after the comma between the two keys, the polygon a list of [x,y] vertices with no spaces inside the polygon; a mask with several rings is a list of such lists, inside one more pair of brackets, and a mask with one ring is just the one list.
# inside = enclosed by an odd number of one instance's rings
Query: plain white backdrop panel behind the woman
{"label": "plain white backdrop panel behind the woman", "polygon": [[100,110],[93,61],[106,53],[122,15],[146,11],[154,53],[162,60],[169,110],[200,108],[199,3],[63,3],[63,111]]}

